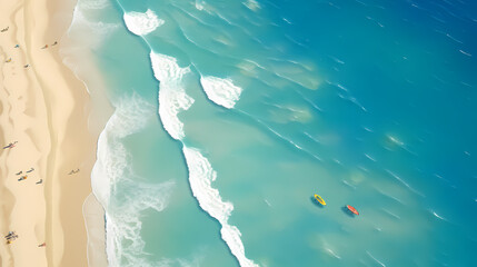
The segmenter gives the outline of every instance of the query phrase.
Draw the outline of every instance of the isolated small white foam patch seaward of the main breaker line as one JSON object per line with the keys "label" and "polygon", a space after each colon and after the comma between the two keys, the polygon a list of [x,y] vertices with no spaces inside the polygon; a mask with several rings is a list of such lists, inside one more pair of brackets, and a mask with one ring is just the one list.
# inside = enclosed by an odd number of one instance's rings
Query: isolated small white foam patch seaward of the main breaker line
{"label": "isolated small white foam patch seaward of the main breaker line", "polygon": [[235,86],[230,79],[206,76],[200,78],[200,83],[207,97],[215,103],[231,109],[240,99],[242,89]]}

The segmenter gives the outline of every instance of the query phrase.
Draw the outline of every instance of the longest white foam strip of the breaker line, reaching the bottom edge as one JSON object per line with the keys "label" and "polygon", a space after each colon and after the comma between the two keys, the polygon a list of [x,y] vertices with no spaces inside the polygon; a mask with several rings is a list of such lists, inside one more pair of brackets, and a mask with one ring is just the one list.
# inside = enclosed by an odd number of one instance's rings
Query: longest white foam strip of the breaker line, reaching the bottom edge
{"label": "longest white foam strip of the breaker line, reaching the bottom edge", "polygon": [[221,237],[238,259],[240,266],[258,267],[257,264],[245,256],[239,229],[228,224],[233,205],[222,201],[219,190],[211,187],[211,182],[217,178],[217,172],[212,169],[209,160],[195,148],[185,146],[182,150],[189,169],[190,188],[200,207],[220,222],[222,226],[220,229]]}

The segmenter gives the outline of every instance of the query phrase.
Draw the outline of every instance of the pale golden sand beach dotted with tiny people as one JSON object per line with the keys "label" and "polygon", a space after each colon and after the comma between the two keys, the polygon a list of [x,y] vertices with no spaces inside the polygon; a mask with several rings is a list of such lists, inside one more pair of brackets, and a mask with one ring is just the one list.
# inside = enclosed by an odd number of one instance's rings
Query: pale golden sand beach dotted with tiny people
{"label": "pale golden sand beach dotted with tiny people", "polygon": [[[3,267],[88,266],[82,205],[91,192],[98,132],[88,130],[85,86],[62,65],[59,44],[51,46],[68,29],[74,4],[0,0],[0,29],[9,27],[0,32],[0,145],[18,141],[0,154]],[[30,168],[18,181],[16,174]],[[7,245],[9,230],[19,238]]]}

